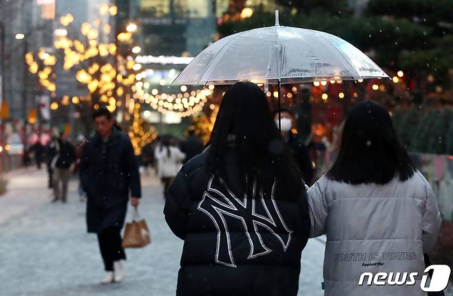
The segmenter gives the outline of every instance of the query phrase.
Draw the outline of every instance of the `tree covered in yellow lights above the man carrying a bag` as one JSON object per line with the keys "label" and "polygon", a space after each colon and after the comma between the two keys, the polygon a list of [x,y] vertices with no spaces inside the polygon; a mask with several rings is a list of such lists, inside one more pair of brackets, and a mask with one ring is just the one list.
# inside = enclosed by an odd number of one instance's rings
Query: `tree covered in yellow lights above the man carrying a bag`
{"label": "tree covered in yellow lights above the man carrying a bag", "polygon": [[[117,8],[115,5],[103,4],[100,14],[115,16]],[[63,27],[67,27],[72,20],[72,16],[67,14],[61,17],[60,22]],[[118,47],[130,46],[135,30],[135,24],[134,27],[128,25],[127,32],[118,34],[114,43],[112,27],[98,19],[93,23],[81,25],[81,38],[70,38],[67,34],[61,34],[54,42],[55,48],[64,53],[63,68],[74,71],[76,80],[87,86],[95,109],[103,104],[113,112],[117,106],[123,104],[120,98],[130,97],[130,87],[136,80],[135,72],[141,66],[136,65],[131,56],[123,57],[118,54]]]}

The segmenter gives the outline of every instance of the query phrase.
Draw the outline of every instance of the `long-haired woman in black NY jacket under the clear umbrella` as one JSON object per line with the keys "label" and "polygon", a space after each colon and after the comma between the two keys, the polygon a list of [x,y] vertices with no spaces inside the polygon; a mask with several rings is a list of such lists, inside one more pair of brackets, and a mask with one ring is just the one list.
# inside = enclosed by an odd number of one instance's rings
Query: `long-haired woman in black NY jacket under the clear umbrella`
{"label": "long-haired woman in black NY jacket under the clear umbrella", "polygon": [[185,240],[177,295],[297,295],[308,203],[260,87],[225,93],[209,147],[182,167],[164,213]]}

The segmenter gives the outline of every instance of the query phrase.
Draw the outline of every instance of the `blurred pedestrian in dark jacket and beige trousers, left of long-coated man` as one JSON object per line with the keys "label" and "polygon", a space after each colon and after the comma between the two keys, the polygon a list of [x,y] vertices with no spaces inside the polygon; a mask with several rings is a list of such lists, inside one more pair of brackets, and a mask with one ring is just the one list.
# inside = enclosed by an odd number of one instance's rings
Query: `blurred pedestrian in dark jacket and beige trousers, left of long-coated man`
{"label": "blurred pedestrian in dark jacket and beige trousers, left of long-coated man", "polygon": [[54,172],[52,174],[54,190],[54,199],[56,201],[67,202],[67,183],[71,175],[71,167],[76,160],[76,152],[74,146],[70,141],[67,141],[65,132],[60,133],[60,137],[55,142],[54,158],[52,159],[52,166]]}

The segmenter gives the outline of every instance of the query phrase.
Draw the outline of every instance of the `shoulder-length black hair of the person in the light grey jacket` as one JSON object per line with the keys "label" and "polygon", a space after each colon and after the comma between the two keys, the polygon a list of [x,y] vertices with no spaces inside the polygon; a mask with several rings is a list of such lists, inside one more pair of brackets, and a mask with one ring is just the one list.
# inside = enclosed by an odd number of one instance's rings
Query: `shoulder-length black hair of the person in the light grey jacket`
{"label": "shoulder-length black hair of the person in the light grey jacket", "polygon": [[327,177],[351,184],[405,181],[415,172],[390,115],[377,102],[357,104],[344,124],[339,155]]}

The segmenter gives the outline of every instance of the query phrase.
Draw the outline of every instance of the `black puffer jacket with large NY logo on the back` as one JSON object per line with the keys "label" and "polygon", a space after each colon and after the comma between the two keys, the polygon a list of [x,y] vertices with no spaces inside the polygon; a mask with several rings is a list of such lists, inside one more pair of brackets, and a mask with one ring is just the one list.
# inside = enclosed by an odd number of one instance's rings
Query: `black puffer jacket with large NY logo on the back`
{"label": "black puffer jacket with large NY logo on the back", "polygon": [[182,167],[165,203],[169,227],[185,240],[177,295],[297,295],[310,232],[305,190],[293,201],[274,183],[244,192],[233,152],[225,180],[206,159]]}

